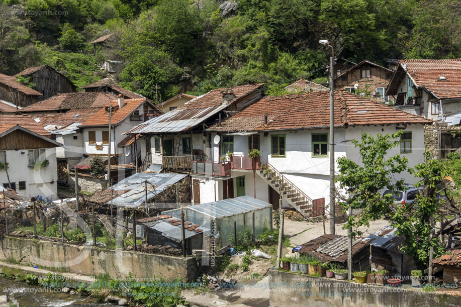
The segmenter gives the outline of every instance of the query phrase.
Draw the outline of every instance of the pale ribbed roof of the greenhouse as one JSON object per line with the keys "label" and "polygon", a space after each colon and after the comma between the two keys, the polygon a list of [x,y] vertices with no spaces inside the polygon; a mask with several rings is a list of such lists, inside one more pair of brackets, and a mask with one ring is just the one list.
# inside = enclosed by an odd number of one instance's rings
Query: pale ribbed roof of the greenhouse
{"label": "pale ribbed roof of the greenhouse", "polygon": [[[213,219],[230,217],[236,214],[250,212],[253,210],[271,207],[270,203],[255,199],[250,196],[240,196],[218,200],[214,202],[196,204],[195,206],[185,207],[185,210],[195,211]],[[165,211],[163,214],[178,216],[180,209]]]}

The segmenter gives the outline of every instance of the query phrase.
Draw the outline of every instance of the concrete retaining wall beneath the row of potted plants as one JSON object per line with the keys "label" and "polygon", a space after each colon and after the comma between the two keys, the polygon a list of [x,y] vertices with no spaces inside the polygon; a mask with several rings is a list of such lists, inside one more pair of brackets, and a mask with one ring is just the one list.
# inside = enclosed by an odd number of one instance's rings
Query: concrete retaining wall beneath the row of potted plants
{"label": "concrete retaining wall beneath the row of potted plants", "polygon": [[390,286],[368,286],[329,278],[269,270],[271,306],[455,307],[461,296]]}

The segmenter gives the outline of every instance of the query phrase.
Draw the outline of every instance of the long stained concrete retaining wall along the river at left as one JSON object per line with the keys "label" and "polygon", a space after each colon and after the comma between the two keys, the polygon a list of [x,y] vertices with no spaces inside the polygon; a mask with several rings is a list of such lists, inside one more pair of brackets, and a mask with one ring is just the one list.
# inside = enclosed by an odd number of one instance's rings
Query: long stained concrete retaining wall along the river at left
{"label": "long stained concrete retaining wall along the river at left", "polygon": [[200,274],[195,257],[115,251],[7,236],[0,239],[0,248],[0,260],[14,258],[21,263],[65,268],[82,275],[107,273],[111,278],[121,278],[131,273],[138,279],[180,277],[183,281],[195,281]]}

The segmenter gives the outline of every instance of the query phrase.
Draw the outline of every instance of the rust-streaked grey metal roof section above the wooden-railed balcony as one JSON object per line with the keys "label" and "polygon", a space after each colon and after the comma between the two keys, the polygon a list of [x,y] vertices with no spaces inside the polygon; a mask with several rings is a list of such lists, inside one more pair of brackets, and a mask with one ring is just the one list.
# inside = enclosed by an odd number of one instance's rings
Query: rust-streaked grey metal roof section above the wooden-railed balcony
{"label": "rust-streaked grey metal roof section above the wooden-railed balcony", "polygon": [[189,130],[201,124],[210,116],[226,109],[228,105],[202,109],[175,109],[150,119],[125,132],[128,133],[164,133]]}

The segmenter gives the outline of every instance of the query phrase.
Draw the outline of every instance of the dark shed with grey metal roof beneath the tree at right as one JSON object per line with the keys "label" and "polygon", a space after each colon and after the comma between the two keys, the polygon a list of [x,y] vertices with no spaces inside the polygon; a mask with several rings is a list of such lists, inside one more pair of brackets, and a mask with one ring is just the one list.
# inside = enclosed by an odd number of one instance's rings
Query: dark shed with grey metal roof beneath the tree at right
{"label": "dark shed with grey metal roof beneath the tree at right", "polygon": [[366,237],[363,242],[372,246],[370,258],[373,270],[386,269],[393,274],[407,276],[411,270],[417,269],[416,264],[411,256],[401,251],[405,240],[403,236],[396,236],[395,231],[389,225]]}

